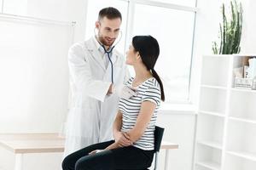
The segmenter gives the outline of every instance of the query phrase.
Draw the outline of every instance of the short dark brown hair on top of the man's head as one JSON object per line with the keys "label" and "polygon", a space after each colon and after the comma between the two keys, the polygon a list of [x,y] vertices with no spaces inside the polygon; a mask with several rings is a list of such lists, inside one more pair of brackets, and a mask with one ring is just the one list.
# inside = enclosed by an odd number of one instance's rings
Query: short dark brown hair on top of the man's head
{"label": "short dark brown hair on top of the man's head", "polygon": [[99,12],[98,20],[102,20],[102,18],[107,17],[108,20],[113,20],[119,18],[122,20],[122,14],[119,12],[117,8],[108,7],[102,8]]}

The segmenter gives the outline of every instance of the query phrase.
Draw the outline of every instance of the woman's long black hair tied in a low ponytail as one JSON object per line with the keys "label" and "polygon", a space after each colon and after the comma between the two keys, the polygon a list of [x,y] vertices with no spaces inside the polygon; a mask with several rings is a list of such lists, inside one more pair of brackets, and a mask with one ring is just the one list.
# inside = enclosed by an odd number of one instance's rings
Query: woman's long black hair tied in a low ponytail
{"label": "woman's long black hair tied in a low ponytail", "polygon": [[160,54],[160,48],[157,40],[151,36],[136,36],[132,38],[132,46],[143,59],[143,64],[146,65],[148,71],[152,72],[153,77],[160,83],[161,100],[165,101],[164,86],[160,77],[154,71],[154,65]]}

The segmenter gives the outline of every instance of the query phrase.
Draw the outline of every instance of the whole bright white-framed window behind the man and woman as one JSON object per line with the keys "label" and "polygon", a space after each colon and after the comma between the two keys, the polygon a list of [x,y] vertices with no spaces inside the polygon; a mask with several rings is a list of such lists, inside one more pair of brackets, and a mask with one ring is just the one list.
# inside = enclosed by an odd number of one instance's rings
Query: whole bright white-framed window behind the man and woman
{"label": "whole bright white-framed window behind the man and woman", "polygon": [[[89,1],[86,38],[93,35],[97,13],[113,6],[123,15],[123,37],[119,50],[131,44],[135,35],[152,35],[160,43],[155,70],[164,83],[166,102],[189,102],[189,82],[195,26],[195,0],[108,0]],[[126,28],[127,25],[127,29]],[[131,69],[132,71],[132,69]],[[132,72],[131,72],[132,74]]]}

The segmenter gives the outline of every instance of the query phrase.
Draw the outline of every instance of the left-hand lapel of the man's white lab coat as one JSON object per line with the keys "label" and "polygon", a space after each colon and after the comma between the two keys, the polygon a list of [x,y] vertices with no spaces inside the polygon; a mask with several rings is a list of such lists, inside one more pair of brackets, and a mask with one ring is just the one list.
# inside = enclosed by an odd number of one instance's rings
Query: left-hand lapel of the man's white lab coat
{"label": "left-hand lapel of the man's white lab coat", "polygon": [[99,51],[96,49],[96,45],[92,38],[90,38],[88,42],[85,42],[85,47],[87,48],[92,58],[96,60],[96,62],[102,67],[104,71],[106,71],[106,67],[103,63],[103,60],[101,59]]}

